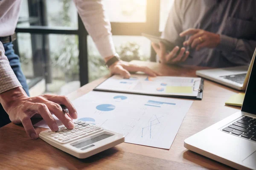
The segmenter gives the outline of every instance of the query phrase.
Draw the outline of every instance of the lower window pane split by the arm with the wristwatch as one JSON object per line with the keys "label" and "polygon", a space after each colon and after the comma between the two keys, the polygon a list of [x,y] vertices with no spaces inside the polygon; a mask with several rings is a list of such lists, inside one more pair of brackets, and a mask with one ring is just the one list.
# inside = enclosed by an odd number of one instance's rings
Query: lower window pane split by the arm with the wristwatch
{"label": "lower window pane split by the arm with the wristwatch", "polygon": [[[148,61],[151,55],[151,42],[141,36],[113,36],[116,52],[124,61],[134,59]],[[96,45],[90,36],[87,37],[88,44],[88,68],[89,82],[109,74],[105,67],[104,59],[100,56]]]}

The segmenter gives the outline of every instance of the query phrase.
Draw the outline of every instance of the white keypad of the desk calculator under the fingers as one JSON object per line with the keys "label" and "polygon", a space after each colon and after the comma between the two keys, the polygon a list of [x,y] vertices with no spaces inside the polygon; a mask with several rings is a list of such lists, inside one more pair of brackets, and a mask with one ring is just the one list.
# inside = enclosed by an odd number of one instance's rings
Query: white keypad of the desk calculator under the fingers
{"label": "white keypad of the desk calculator under the fingers", "polygon": [[74,129],[67,129],[64,125],[59,126],[57,132],[52,132],[50,129],[44,131],[45,136],[48,136],[55,141],[65,144],[72,142],[76,139],[80,139],[86,136],[90,136],[94,133],[98,133],[103,129],[99,126],[91,125],[83,121],[76,121]]}

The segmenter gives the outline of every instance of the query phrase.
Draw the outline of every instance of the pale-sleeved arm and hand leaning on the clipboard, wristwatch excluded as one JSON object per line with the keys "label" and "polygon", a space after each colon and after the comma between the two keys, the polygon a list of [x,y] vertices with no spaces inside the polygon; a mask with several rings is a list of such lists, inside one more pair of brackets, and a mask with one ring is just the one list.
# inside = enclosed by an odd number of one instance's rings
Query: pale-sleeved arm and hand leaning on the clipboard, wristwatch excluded
{"label": "pale-sleeved arm and hand leaning on the clipboard, wristwatch excluded", "polygon": [[[102,0],[74,0],[74,3],[86,30],[93,38],[99,53],[107,62],[114,56],[116,50],[112,40],[111,25]],[[147,67],[131,65],[124,61],[113,63],[109,69],[112,74],[121,74],[125,78],[131,76],[128,71],[143,71],[150,76],[160,75]]]}

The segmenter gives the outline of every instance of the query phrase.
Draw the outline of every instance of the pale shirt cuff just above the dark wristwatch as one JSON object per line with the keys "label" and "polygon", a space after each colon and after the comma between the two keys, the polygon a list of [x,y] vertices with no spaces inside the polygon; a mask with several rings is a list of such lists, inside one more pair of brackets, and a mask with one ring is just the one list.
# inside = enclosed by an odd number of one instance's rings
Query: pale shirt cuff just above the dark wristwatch
{"label": "pale shirt cuff just above the dark wristwatch", "polygon": [[116,54],[115,45],[113,43],[113,39],[111,35],[95,42],[95,45],[99,51],[99,54],[104,58],[110,57]]}

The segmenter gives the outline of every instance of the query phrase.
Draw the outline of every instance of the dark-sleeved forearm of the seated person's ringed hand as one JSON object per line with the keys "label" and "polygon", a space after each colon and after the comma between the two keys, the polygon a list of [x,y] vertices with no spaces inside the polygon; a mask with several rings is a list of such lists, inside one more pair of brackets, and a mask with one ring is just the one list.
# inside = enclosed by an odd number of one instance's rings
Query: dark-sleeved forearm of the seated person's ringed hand
{"label": "dark-sleeved forearm of the seated person's ringed hand", "polygon": [[220,35],[220,43],[216,47],[222,54],[236,62],[249,63],[256,47],[255,40],[244,40]]}

